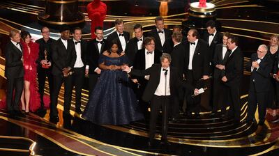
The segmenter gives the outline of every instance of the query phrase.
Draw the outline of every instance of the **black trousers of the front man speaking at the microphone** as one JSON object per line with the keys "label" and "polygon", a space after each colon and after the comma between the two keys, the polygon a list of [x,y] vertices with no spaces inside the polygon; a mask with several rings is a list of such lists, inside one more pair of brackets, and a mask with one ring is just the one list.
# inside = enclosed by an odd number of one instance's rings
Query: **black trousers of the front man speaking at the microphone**
{"label": "black trousers of the front man speaking at the microphone", "polygon": [[156,133],[156,121],[162,108],[162,140],[167,139],[167,122],[170,96],[154,95],[151,100],[151,115],[149,123],[149,139],[153,139]]}

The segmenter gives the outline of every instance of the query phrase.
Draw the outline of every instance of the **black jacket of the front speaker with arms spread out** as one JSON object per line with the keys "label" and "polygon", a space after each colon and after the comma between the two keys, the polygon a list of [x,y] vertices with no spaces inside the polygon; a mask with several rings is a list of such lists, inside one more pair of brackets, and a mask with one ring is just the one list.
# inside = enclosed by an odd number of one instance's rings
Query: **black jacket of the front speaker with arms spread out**
{"label": "black jacket of the front speaker with arms spread out", "polygon": [[[144,94],[142,95],[142,100],[145,102],[149,102],[160,83],[160,73],[162,72],[162,68],[160,64],[153,64],[151,68],[148,68],[146,70],[131,70],[129,73],[130,75],[137,75],[140,77],[144,77],[144,75],[150,75],[149,81],[146,85],[146,88],[144,90]],[[183,86],[187,89],[190,89],[194,91],[193,86],[190,86],[190,84],[187,84],[185,81],[182,81],[179,79],[178,72],[176,68],[170,67],[170,73],[169,76],[169,88],[170,88],[170,95],[172,98],[177,98],[178,96],[178,88],[180,86]]]}

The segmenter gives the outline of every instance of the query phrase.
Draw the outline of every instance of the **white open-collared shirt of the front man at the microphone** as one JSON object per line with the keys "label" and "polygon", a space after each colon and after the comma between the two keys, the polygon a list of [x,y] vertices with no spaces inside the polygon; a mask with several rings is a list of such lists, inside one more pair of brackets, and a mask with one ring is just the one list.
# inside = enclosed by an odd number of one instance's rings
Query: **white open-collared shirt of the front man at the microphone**
{"label": "white open-collared shirt of the front man at the microphone", "polygon": [[[167,77],[165,76],[165,71],[161,68],[160,72],[160,83],[155,91],[155,95],[162,96],[162,95],[170,95],[170,87],[169,87],[169,73],[170,69],[167,68]],[[165,84],[167,79],[167,84]],[[166,89],[167,86],[167,89]]]}

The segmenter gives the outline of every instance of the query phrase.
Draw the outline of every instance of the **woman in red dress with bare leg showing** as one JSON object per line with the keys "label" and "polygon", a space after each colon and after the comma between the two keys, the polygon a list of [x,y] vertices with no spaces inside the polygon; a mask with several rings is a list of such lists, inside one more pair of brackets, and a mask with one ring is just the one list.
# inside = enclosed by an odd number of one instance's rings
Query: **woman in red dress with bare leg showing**
{"label": "woman in red dress with bare leg showing", "polygon": [[29,113],[35,112],[40,107],[40,94],[37,88],[37,64],[39,45],[31,41],[31,35],[28,31],[21,31],[22,52],[24,65],[24,89],[20,99],[22,111]]}

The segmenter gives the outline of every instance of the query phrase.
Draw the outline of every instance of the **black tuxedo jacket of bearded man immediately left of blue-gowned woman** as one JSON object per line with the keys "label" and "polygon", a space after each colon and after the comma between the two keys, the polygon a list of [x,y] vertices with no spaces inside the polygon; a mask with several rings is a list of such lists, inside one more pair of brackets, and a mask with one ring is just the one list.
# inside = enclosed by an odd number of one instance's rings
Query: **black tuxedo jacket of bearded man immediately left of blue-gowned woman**
{"label": "black tuxedo jacket of bearded man immediately left of blue-gowned woman", "polygon": [[86,52],[86,65],[89,65],[89,74],[96,73],[94,72],[94,70],[98,67],[98,60],[100,58],[100,55],[103,54],[105,50],[107,50],[107,40],[105,39],[103,39],[100,52],[98,49],[96,38],[88,42],[87,52]]}

